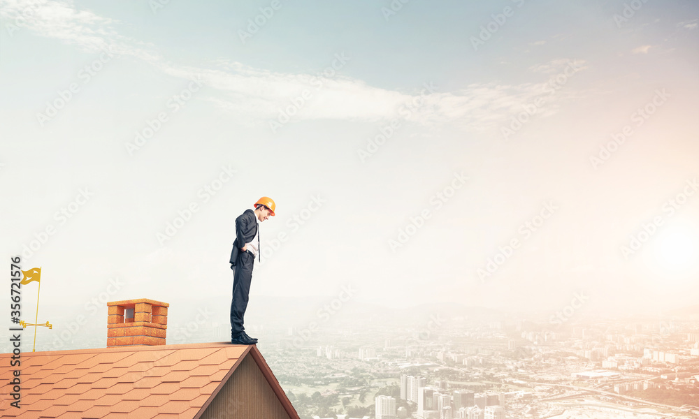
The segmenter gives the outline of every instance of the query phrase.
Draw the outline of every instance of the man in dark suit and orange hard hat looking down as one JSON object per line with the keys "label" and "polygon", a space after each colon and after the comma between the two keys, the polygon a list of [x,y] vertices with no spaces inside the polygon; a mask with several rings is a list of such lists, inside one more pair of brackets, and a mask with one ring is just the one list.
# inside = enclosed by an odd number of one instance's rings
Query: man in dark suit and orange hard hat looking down
{"label": "man in dark suit and orange hard hat looking down", "polygon": [[[233,270],[233,300],[231,301],[231,344],[252,345],[257,339],[247,336],[243,327],[243,317],[250,295],[252,265],[259,257],[259,228],[257,221],[265,221],[274,216],[275,203],[272,198],[263,196],[257,200],[254,210],[245,210],[236,219],[236,240],[231,251]],[[261,258],[260,258],[261,260]]]}

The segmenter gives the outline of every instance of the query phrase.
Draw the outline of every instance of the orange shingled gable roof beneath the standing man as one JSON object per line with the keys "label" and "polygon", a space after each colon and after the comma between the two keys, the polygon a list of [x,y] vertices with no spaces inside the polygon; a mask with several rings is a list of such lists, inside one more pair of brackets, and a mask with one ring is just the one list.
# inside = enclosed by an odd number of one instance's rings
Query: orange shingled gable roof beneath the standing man
{"label": "orange shingled gable roof beneath the standing man", "polygon": [[[128,346],[0,355],[0,382],[20,369],[21,409],[2,385],[3,418],[199,418],[251,355],[291,418],[296,411],[257,346],[230,343]],[[291,410],[289,410],[291,409]],[[291,414],[293,412],[293,414]]]}

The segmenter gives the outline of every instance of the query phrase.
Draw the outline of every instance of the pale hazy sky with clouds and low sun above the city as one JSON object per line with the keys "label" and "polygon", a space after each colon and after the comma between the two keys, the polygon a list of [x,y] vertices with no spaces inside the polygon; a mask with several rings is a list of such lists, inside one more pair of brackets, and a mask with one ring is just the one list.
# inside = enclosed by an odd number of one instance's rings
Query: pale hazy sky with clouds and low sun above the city
{"label": "pale hazy sky with clouds and low sun above the city", "polygon": [[40,307],[225,323],[260,196],[250,304],[696,304],[696,1],[0,5],[1,246]]}

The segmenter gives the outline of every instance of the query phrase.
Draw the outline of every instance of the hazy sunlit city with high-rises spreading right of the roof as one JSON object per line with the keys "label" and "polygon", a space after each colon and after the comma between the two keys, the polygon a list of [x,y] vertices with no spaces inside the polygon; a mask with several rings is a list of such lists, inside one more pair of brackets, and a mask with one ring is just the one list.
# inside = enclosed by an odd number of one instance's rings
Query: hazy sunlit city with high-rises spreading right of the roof
{"label": "hazy sunlit city with high-rises spreading right of the roof", "polygon": [[421,328],[347,325],[301,347],[288,330],[262,347],[302,418],[699,418],[694,313],[569,328],[431,314]]}

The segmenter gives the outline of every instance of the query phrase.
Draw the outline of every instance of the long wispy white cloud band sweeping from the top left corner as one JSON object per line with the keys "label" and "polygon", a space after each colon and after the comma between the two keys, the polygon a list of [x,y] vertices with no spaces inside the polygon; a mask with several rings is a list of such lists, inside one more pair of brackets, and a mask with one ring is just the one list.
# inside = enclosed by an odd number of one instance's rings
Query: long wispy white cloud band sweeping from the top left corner
{"label": "long wispy white cloud band sweeping from the top left corner", "polygon": [[[75,45],[84,52],[110,49],[117,57],[141,59],[176,78],[201,79],[206,87],[206,93],[199,96],[201,100],[214,103],[222,112],[247,125],[268,124],[280,112],[290,110],[295,120],[405,118],[419,124],[451,123],[483,131],[510,119],[513,112],[521,110],[522,104],[542,94],[544,87],[544,83],[480,83],[449,92],[439,91],[438,87],[428,91],[424,86],[415,86],[412,91],[394,91],[340,75],[339,69],[326,77],[278,73],[225,59],[202,66],[182,66],[163,59],[153,45],[120,35],[115,29],[121,24],[119,21],[89,10],[77,10],[71,0],[0,0],[0,5],[0,17],[10,25],[15,24],[15,30],[26,28],[40,36]],[[545,41],[534,44],[542,43]],[[338,54],[328,57],[328,66],[336,62]],[[557,59],[533,66],[531,70],[552,75],[571,63],[582,66],[584,61]],[[557,95],[556,99],[562,97]]]}

